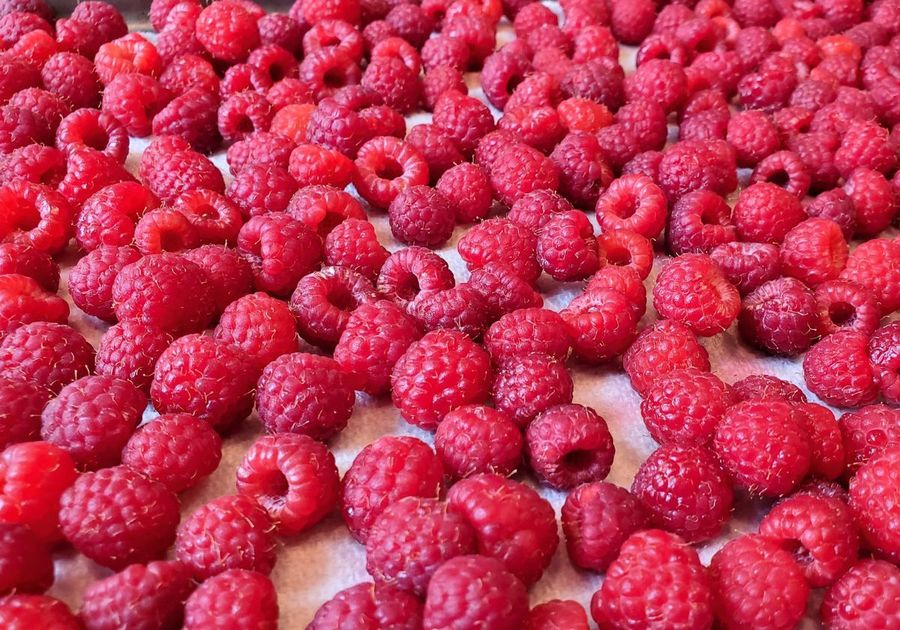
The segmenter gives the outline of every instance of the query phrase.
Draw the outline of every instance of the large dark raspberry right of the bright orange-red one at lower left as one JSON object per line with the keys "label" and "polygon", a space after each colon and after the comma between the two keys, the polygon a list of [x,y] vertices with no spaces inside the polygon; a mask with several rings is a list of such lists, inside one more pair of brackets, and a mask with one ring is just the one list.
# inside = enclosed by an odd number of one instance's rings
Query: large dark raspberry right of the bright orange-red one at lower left
{"label": "large dark raspberry right of the bright orange-red one at lower left", "polygon": [[124,466],[81,475],[60,499],[63,535],[112,569],[161,555],[175,539],[178,519],[172,492]]}

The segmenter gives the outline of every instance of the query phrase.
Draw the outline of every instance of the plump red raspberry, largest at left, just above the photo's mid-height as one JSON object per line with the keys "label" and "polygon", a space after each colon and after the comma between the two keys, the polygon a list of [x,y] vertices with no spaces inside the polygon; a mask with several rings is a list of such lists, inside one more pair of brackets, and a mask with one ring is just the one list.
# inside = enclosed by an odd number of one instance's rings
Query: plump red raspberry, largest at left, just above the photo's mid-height
{"label": "plump red raspberry, largest at left, just above the photo's mid-height", "polygon": [[112,297],[119,320],[135,319],[176,335],[202,330],[213,314],[208,278],[177,254],[154,254],[126,265]]}

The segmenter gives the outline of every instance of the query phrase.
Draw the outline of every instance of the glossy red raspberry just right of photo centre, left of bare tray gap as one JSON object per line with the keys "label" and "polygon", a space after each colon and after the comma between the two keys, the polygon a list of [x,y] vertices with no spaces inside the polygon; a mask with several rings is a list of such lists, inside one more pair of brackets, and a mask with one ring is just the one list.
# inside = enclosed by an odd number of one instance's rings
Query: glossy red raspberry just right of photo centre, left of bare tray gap
{"label": "glossy red raspberry just right of photo centre, left of bare tray gap", "polygon": [[637,334],[637,313],[628,298],[615,289],[582,293],[560,315],[572,337],[575,356],[590,364],[621,355]]}

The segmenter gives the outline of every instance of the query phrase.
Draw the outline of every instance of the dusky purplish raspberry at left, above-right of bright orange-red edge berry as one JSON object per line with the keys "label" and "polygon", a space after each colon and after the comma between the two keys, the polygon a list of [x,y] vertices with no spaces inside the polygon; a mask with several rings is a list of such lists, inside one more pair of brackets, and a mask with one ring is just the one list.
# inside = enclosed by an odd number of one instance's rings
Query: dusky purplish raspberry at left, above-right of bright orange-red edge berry
{"label": "dusky purplish raspberry at left, above-right of bright orange-red edge berry", "polygon": [[146,406],[147,397],[128,381],[85,376],[63,387],[44,408],[41,436],[80,468],[115,466]]}

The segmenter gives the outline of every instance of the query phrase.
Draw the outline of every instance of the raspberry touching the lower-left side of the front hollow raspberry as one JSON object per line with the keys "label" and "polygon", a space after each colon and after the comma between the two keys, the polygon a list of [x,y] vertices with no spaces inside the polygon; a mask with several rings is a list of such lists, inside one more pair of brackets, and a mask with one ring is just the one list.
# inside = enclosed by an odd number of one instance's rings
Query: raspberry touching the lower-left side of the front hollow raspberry
{"label": "raspberry touching the lower-left side of the front hollow raspberry", "polygon": [[221,496],[181,524],[175,557],[199,580],[229,569],[268,575],[276,560],[273,527],[265,510],[252,499]]}

